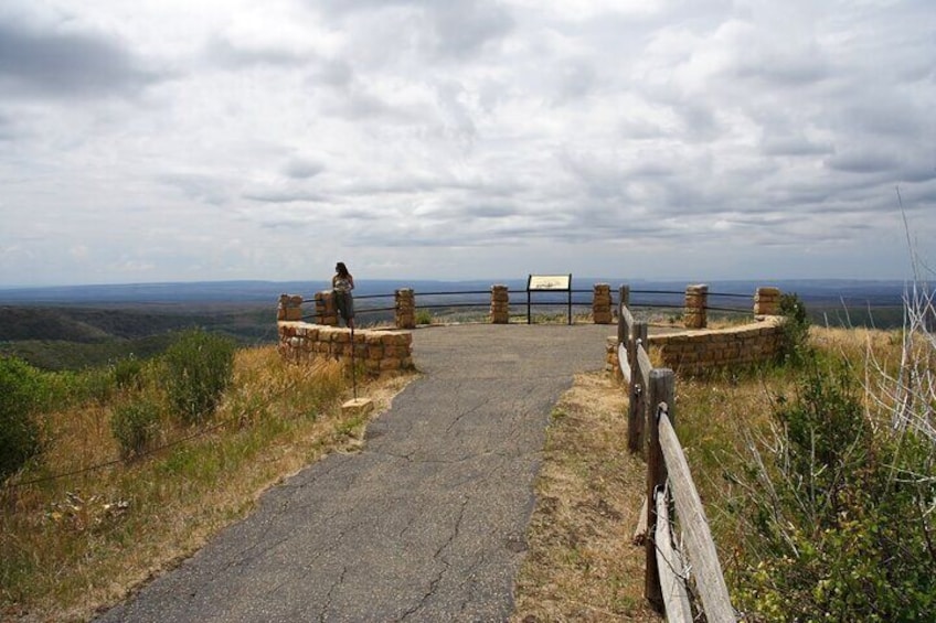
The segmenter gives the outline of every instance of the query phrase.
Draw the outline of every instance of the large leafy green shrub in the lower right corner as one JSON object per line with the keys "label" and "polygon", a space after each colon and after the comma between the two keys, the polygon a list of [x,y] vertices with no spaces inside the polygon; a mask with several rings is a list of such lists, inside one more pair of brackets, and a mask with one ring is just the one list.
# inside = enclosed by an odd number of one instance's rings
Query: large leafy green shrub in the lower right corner
{"label": "large leafy green shrub in the lower right corner", "polygon": [[769,621],[934,621],[930,449],[871,426],[848,372],[807,370],[755,461],[736,601]]}

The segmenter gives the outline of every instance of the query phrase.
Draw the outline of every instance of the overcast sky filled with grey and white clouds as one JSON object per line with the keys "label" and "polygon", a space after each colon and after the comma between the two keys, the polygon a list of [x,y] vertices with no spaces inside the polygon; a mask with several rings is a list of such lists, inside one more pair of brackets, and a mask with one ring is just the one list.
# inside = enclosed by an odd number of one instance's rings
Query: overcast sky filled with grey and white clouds
{"label": "overcast sky filled with grey and white clouds", "polygon": [[934,208],[933,0],[0,2],[0,287],[903,279]]}

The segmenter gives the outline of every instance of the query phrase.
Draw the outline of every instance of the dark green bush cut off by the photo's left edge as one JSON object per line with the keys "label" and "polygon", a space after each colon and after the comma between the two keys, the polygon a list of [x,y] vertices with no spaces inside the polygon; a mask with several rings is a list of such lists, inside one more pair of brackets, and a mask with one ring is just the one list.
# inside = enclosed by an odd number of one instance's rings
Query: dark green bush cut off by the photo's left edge
{"label": "dark green bush cut off by the photo's left edge", "polygon": [[40,450],[35,412],[43,394],[39,370],[22,359],[0,357],[0,481]]}

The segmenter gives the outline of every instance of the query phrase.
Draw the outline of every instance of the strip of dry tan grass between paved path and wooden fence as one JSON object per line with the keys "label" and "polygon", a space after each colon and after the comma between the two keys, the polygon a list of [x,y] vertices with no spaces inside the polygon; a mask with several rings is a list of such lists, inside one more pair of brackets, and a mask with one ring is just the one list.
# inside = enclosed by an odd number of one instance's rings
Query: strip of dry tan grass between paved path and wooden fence
{"label": "strip of dry tan grass between paved path and wooden fence", "polygon": [[659,621],[631,544],[646,468],[627,452],[627,399],[606,374],[577,375],[555,407],[511,621]]}

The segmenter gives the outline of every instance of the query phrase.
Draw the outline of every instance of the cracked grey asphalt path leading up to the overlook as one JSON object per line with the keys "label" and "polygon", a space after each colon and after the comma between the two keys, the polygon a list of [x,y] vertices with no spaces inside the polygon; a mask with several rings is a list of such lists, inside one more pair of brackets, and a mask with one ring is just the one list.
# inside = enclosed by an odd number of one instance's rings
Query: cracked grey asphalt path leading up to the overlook
{"label": "cracked grey asphalt path leading up to the overlook", "polygon": [[414,332],[425,373],[334,454],[265,494],[100,621],[503,621],[544,428],[614,326]]}

